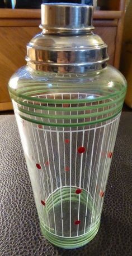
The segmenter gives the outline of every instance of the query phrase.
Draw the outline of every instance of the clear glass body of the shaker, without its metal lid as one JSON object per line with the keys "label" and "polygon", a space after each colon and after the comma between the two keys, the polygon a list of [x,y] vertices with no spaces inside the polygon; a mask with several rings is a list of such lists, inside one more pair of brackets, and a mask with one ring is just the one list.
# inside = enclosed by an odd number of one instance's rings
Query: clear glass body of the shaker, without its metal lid
{"label": "clear glass body of the shaker, without its metal lid", "polygon": [[9,91],[41,231],[77,248],[97,233],[126,81],[111,66],[87,74],[25,66]]}

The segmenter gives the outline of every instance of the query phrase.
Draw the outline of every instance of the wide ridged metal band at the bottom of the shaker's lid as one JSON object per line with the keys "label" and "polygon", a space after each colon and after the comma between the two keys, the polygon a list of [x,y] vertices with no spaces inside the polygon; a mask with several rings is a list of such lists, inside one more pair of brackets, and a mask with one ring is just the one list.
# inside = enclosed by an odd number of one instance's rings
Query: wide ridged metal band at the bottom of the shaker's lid
{"label": "wide ridged metal band at the bottom of the shaker's lid", "polygon": [[87,70],[98,70],[105,68],[109,57],[107,46],[93,50],[41,50],[27,45],[26,61],[28,65],[36,70],[43,71],[71,71],[83,72]]}

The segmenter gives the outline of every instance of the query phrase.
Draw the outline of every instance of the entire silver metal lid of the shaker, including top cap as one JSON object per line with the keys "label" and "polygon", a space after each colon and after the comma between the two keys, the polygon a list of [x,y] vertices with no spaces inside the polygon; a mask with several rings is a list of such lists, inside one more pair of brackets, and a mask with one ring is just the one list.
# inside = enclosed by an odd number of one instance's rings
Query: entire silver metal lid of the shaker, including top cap
{"label": "entire silver metal lid of the shaker, including top cap", "polygon": [[107,45],[93,34],[93,6],[41,5],[41,29],[27,44],[27,64],[34,70],[84,73],[106,67]]}

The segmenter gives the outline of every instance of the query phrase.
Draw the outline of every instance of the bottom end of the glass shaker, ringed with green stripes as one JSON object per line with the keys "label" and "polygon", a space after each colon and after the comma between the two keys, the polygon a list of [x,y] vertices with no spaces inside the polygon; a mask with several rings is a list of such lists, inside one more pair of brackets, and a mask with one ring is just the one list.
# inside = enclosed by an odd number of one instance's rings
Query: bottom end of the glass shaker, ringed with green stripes
{"label": "bottom end of the glass shaker, ringed with green stripes", "polygon": [[100,226],[97,205],[84,188],[58,188],[45,201],[44,211],[48,222],[43,217],[40,219],[41,231],[60,248],[73,249],[87,244]]}

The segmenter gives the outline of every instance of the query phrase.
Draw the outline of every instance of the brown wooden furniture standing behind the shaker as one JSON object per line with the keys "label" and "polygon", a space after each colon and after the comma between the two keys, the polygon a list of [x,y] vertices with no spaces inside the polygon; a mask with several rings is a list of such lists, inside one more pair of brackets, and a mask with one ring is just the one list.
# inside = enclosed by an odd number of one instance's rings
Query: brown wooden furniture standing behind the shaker
{"label": "brown wooden furniture standing behind the shaker", "polygon": [[[108,44],[109,63],[119,68],[125,0],[117,2],[116,11],[95,11],[93,25],[95,33]],[[0,111],[12,109],[8,80],[26,64],[26,44],[41,32],[39,24],[40,10],[0,9]]]}

